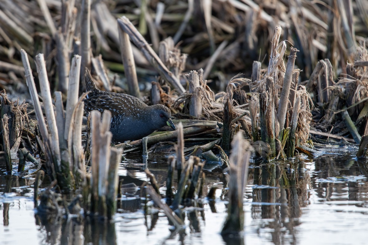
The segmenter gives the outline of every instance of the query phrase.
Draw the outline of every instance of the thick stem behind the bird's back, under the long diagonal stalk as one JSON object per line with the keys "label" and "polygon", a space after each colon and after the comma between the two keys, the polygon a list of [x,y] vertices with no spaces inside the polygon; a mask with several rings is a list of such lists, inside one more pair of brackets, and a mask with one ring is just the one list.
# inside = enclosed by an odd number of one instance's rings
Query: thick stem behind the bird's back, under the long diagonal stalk
{"label": "thick stem behind the bird's back, under the long diagonal stalk", "polygon": [[132,45],[129,35],[123,29],[118,28],[120,39],[121,60],[123,60],[125,77],[127,78],[128,90],[132,96],[141,98],[139,92],[137,71],[135,70],[135,62],[133,57]]}

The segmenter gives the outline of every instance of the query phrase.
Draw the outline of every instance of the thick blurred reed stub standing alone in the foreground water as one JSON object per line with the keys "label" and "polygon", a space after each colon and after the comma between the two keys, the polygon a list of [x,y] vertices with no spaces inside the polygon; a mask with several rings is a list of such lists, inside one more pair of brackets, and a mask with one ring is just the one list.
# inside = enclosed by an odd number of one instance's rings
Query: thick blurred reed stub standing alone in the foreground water
{"label": "thick blurred reed stub standing alone in the foreground water", "polygon": [[229,163],[229,205],[221,235],[238,235],[244,229],[243,192],[248,179],[251,146],[240,132],[231,143]]}

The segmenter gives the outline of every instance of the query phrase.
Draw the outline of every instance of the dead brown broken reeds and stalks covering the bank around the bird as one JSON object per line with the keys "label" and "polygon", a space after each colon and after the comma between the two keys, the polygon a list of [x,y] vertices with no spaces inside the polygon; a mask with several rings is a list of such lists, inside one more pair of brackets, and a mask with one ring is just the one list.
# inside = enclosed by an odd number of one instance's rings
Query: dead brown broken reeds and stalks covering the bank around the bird
{"label": "dead brown broken reeds and stalks covering the bank around the bird", "polygon": [[[325,142],[320,136],[328,136],[361,143],[359,155],[367,154],[368,5],[363,1],[139,4],[1,1],[0,88],[33,106],[27,112],[25,104],[14,106],[5,92],[1,94],[8,171],[9,152],[21,142],[32,154],[41,154],[52,185],[57,183],[61,192],[80,188],[86,210],[111,218],[117,183],[102,163],[111,161],[115,173],[120,155],[110,148],[109,116],[102,125],[95,116],[92,128],[102,131],[92,133],[92,140],[103,138],[104,144],[92,144],[97,147],[91,151],[92,174],[86,172],[83,147],[89,150],[89,140],[82,141],[82,105],[77,102],[84,91],[83,83],[79,85],[84,73],[79,76],[79,71],[86,67],[103,89],[167,105],[175,113],[174,123],[183,123],[183,137],[178,131],[149,136],[149,151],[171,148],[178,136],[199,142],[187,147],[180,143],[184,164],[180,171],[188,174],[180,179],[180,195],[170,199],[176,209],[189,172],[196,169],[199,176],[202,171],[195,156],[215,152],[227,164],[235,135],[250,142],[256,156],[267,161],[297,152],[313,156],[310,133],[318,136],[314,141]],[[113,72],[124,72],[126,83]],[[36,83],[31,84],[33,76]],[[141,84],[152,85],[148,96],[139,91],[138,78]],[[24,94],[25,80],[30,97]],[[7,120],[9,115],[13,122]],[[129,152],[141,145],[137,140],[116,147]],[[188,163],[184,154],[191,155]],[[106,178],[112,187],[106,187]],[[195,186],[198,178],[192,179]],[[195,198],[194,190],[186,191]],[[148,192],[154,195],[153,189]],[[105,198],[109,207],[100,205]]]}

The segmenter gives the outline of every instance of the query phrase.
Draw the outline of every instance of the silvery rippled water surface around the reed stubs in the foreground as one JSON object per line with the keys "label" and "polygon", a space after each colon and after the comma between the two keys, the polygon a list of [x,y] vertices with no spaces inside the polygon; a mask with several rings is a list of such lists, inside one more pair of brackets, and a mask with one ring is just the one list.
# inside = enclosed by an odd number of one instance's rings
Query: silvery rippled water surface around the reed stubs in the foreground
{"label": "silvery rippled water surface around the reed stubs in the foreground", "polygon": [[[355,148],[323,150],[315,159],[251,165],[244,191],[244,240],[227,243],[367,244],[368,163],[354,158]],[[164,183],[165,159],[141,162],[136,157],[121,164],[123,184],[139,187],[147,180],[145,167]],[[217,186],[216,200],[186,210],[183,235],[171,233],[166,217],[154,208],[145,217],[135,197],[140,190],[128,188],[132,185],[125,185],[128,195],[118,202],[114,224],[61,223],[58,217],[47,224],[35,216],[33,180],[0,176],[0,244],[226,244],[220,236],[227,205],[223,181],[219,169],[206,173],[205,191]]]}

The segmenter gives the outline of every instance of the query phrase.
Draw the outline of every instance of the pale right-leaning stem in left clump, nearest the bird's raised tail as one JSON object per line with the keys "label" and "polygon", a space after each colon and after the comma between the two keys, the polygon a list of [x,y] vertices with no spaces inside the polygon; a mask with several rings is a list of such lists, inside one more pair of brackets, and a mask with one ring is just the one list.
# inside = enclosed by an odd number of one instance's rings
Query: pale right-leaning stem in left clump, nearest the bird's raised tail
{"label": "pale right-leaning stem in left clump, nearest the bird's raised tail", "polygon": [[74,55],[71,60],[71,67],[69,72],[69,83],[68,83],[68,96],[65,113],[65,125],[64,125],[64,139],[68,139],[69,128],[71,125],[72,112],[78,101],[79,95],[79,79],[81,74],[81,56]]}

